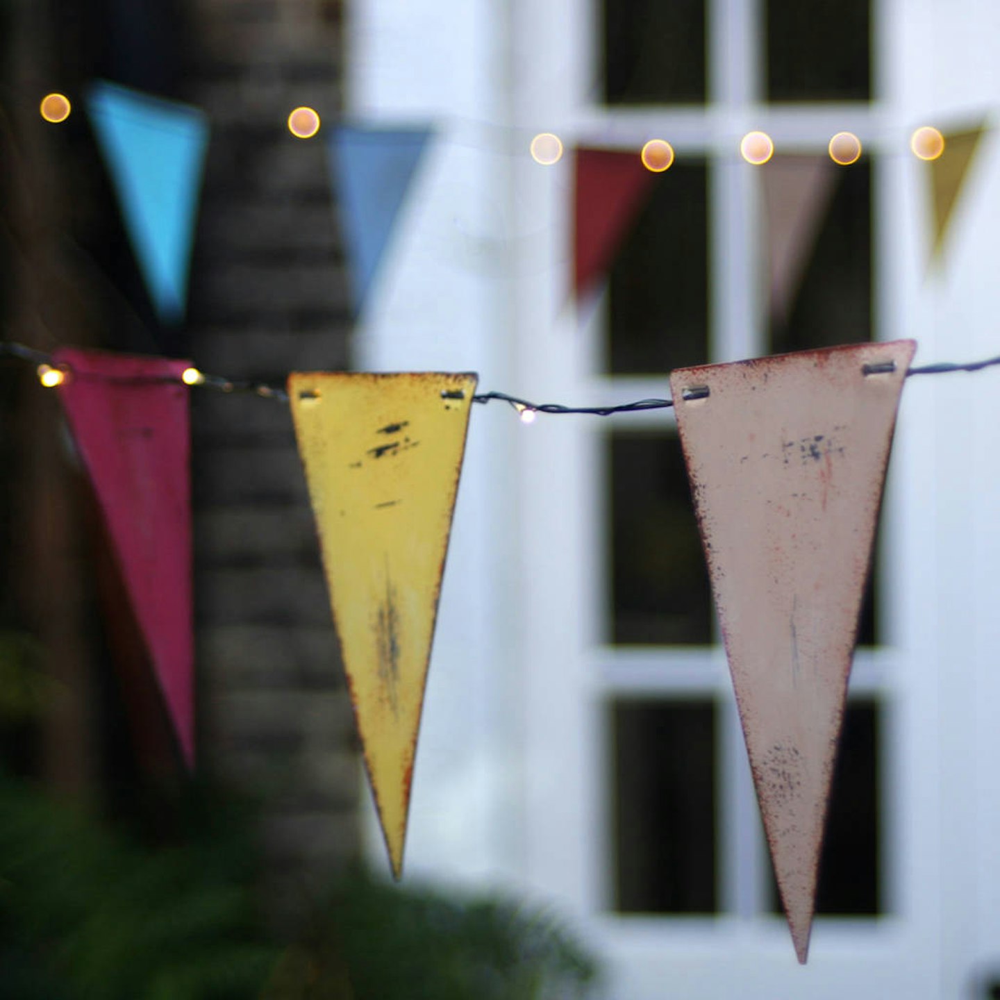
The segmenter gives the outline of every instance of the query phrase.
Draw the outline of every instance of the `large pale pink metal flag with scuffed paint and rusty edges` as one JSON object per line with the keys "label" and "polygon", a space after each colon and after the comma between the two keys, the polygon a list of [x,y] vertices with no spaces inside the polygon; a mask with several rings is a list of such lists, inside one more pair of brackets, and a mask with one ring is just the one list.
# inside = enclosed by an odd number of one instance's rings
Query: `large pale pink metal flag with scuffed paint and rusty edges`
{"label": "large pale pink metal flag with scuffed paint and rusty edges", "polygon": [[[908,340],[835,347],[670,377],[757,799],[803,963],[864,584],[914,349]],[[887,362],[892,371],[865,374]]]}

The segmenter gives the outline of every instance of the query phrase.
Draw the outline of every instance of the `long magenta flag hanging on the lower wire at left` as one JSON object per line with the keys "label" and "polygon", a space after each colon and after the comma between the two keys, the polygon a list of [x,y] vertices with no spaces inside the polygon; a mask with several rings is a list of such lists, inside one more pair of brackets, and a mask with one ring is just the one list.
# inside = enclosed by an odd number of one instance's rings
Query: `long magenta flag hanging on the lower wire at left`
{"label": "long magenta flag hanging on the lower wire at left", "polygon": [[194,763],[189,362],[64,349],[59,388],[188,766]]}

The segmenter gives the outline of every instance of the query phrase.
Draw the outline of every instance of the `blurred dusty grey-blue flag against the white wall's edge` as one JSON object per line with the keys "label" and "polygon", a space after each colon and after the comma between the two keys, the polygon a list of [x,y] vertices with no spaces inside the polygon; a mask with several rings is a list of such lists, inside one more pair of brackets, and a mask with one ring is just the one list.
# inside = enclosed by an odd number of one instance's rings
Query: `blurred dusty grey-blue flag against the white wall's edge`
{"label": "blurred dusty grey-blue flag against the white wall's edge", "polygon": [[355,312],[364,304],[429,137],[429,129],[341,126],[330,138]]}

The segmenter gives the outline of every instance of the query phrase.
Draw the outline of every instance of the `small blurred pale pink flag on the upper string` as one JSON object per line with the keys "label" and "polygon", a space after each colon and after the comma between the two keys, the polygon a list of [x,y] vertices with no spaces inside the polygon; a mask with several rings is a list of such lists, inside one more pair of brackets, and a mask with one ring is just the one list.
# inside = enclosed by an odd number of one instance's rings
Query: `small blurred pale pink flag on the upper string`
{"label": "small blurred pale pink flag on the upper string", "polygon": [[778,325],[795,303],[839,169],[828,156],[775,156],[758,171],[767,213],[770,316]]}

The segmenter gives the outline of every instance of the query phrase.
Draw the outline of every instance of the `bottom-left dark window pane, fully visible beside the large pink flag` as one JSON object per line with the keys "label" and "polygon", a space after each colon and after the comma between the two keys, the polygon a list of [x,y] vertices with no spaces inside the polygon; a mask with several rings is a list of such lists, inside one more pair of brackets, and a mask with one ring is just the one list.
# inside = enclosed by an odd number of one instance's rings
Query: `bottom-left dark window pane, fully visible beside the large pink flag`
{"label": "bottom-left dark window pane, fully visible beside the large pink flag", "polygon": [[620,701],[612,731],[615,909],[714,913],[714,705]]}

